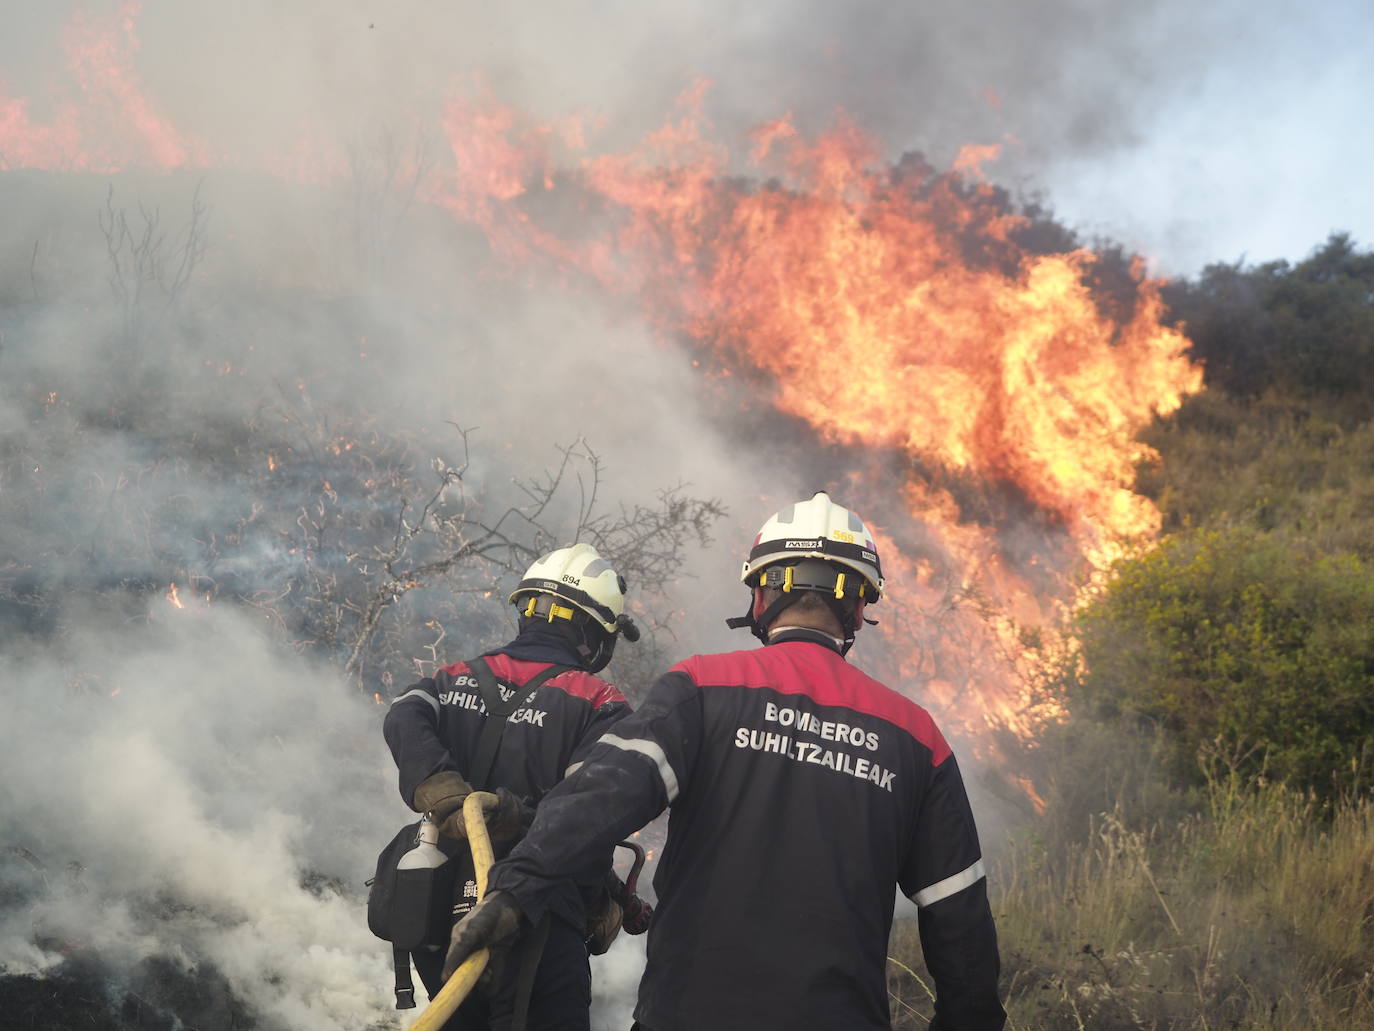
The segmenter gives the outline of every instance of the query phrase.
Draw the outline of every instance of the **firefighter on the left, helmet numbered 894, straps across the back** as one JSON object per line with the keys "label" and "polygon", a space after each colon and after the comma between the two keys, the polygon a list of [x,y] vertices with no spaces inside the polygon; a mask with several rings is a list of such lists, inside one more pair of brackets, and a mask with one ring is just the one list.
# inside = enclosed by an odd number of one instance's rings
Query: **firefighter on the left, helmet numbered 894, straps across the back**
{"label": "firefighter on the left, helmet numbered 894, straps across the back", "polygon": [[[473,661],[411,685],[392,702],[383,724],[401,797],[416,812],[429,812],[441,834],[466,837],[463,801],[474,788],[497,795],[500,804],[488,814],[497,855],[529,826],[533,807],[547,792],[581,766],[592,742],[629,712],[625,697],[595,674],[610,661],[621,636],[639,638],[624,612],[624,577],[591,544],[540,557],[510,602],[519,613],[519,632],[486,652],[478,665],[485,661],[495,676],[492,686],[507,702],[529,687],[533,694],[518,702],[503,726],[488,727],[493,718]],[[548,679],[534,685],[540,676]],[[588,946],[605,951],[618,929],[620,909],[605,891],[607,874],[614,877],[609,873],[613,844],[599,850],[583,877],[558,877],[545,885],[541,914],[547,918],[540,933],[493,964],[499,969],[484,979],[445,1031],[522,1026],[587,1031]],[[475,895],[471,883],[469,891]],[[416,951],[412,958],[433,998],[444,983],[442,953]]]}

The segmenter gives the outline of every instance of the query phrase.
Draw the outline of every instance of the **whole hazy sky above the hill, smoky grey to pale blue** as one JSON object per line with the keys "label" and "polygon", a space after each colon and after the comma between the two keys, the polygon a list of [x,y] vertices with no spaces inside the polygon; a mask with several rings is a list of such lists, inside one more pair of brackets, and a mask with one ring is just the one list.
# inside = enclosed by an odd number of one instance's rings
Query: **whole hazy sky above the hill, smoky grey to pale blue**
{"label": "whole hazy sky above the hill, smoky grey to pale blue", "polygon": [[[698,77],[727,142],[835,110],[892,154],[944,164],[1002,143],[988,175],[1164,274],[1300,258],[1333,230],[1374,243],[1362,0],[4,0],[0,99],[41,121],[73,76],[73,12],[132,16],[155,111],[212,153],[287,151],[437,113],[481,81],[540,115],[600,118],[616,146]],[[63,29],[63,23],[69,29]],[[66,33],[66,34],[65,34]]]}

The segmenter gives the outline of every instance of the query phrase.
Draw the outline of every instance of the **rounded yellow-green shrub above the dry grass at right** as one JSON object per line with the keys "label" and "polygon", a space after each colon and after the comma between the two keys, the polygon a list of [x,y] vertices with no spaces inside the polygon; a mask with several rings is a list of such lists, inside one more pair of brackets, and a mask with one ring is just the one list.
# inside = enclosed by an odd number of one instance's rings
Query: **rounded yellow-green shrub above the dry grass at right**
{"label": "rounded yellow-green shrub above the dry grass at right", "polygon": [[[1193,531],[1117,569],[1079,619],[1073,704],[1320,792],[1374,753],[1374,577],[1253,529]],[[1194,770],[1194,773],[1197,773]]]}

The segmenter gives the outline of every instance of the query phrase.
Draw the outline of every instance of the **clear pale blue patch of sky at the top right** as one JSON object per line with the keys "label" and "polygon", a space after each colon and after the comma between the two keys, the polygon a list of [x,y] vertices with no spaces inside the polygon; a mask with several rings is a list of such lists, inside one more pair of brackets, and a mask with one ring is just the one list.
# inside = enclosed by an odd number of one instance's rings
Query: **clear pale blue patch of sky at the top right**
{"label": "clear pale blue patch of sky at the top right", "polygon": [[[1296,260],[1333,231],[1374,246],[1374,5],[1212,3],[1197,16],[1210,45],[1190,47],[1179,19],[1178,80],[1136,109],[1131,140],[1029,177],[1073,224],[1167,272]],[[1173,63],[1167,40],[1157,55]]]}

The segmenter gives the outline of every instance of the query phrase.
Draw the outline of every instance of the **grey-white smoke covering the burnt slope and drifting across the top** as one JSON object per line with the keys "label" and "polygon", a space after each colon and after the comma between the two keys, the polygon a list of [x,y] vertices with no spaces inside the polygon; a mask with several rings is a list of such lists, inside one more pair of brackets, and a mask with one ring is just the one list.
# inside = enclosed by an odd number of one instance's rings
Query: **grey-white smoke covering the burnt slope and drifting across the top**
{"label": "grey-white smoke covering the burnt slope and drifting across the top", "polygon": [[[462,469],[445,505],[492,521],[561,447],[599,465],[574,462],[548,507],[559,543],[594,489],[609,511],[679,484],[724,499],[713,547],[635,584],[665,628],[653,660],[622,646],[610,667],[633,691],[655,663],[747,646],[723,627],[743,543],[853,473],[702,377],[633,298],[511,272],[425,203],[420,169],[452,161],[445,98],[581,114],[614,148],[706,76],[725,133],[844,107],[894,153],[1010,133],[1032,166],[1128,147],[1162,88],[1136,47],[1158,12],[1113,7],[8,12],[0,128],[38,126],[55,157],[0,146],[0,169],[23,169],[0,172],[0,968],[87,957],[117,1002],[157,961],[214,972],[264,1027],[394,1026],[361,880],[407,811],[344,667],[354,580],[383,565],[401,502],[414,514],[437,467]],[[1110,88],[1080,85],[1107,67]],[[158,175],[157,154],[185,159]],[[578,202],[556,213],[573,230]],[[464,569],[392,608],[368,693],[510,634],[508,570]],[[625,1019],[640,951],[598,961],[598,1019]]]}

